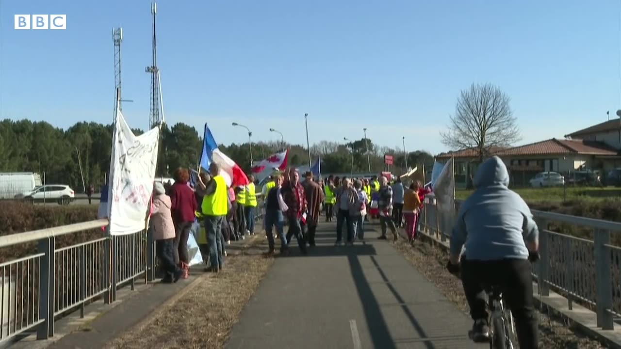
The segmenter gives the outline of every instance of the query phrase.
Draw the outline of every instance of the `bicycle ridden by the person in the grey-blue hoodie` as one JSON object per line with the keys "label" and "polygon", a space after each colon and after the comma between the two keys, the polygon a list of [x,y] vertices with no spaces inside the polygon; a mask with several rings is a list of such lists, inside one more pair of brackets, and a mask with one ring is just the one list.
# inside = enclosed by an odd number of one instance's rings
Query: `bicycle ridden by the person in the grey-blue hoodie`
{"label": "bicycle ridden by the person in the grey-blue hoodie", "polygon": [[[539,253],[529,253],[528,260],[533,263],[539,260]],[[459,274],[459,266],[451,265],[450,261],[447,266],[451,274]],[[509,308],[504,307],[502,301],[502,292],[497,285],[484,285],[485,292],[487,293],[487,310],[489,311],[489,317],[487,324],[489,324],[489,348],[490,349],[514,349],[514,342],[517,342],[515,337],[515,323],[513,316]],[[473,331],[468,331],[468,337],[473,340]]]}

